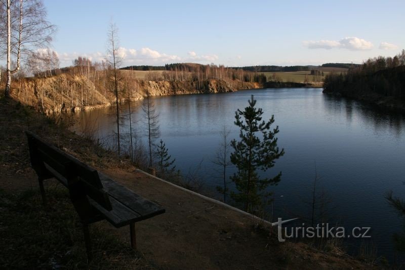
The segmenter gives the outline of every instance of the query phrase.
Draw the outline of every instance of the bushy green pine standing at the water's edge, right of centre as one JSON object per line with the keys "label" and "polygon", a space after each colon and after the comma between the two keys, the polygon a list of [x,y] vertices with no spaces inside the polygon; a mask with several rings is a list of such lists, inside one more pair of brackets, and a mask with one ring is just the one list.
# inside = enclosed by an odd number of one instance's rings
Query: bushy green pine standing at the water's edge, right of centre
{"label": "bushy green pine standing at the water's edge, right of centre", "polygon": [[256,100],[252,95],[249,106],[244,111],[238,109],[235,112],[234,124],[240,128],[240,141],[231,141],[234,152],[230,157],[237,168],[237,173],[231,176],[231,180],[239,191],[231,192],[231,197],[238,203],[244,203],[245,211],[250,213],[262,206],[262,197],[270,195],[265,192],[266,187],[277,184],[281,177],[279,172],[273,178],[262,179],[257,170],[266,171],[274,166],[276,159],[284,155],[284,149],[279,150],[275,138],[278,126],[270,130],[274,115],[268,122],[262,121],[263,110],[255,105]]}

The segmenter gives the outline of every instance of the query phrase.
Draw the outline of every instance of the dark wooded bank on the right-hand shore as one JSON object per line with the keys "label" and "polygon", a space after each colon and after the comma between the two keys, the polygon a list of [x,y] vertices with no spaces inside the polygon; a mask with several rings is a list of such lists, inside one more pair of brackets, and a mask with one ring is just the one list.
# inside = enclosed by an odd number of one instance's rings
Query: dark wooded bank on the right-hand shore
{"label": "dark wooded bank on the right-hand shore", "polygon": [[394,57],[370,58],[347,73],[330,73],[324,92],[362,99],[395,97],[405,101],[405,50]]}

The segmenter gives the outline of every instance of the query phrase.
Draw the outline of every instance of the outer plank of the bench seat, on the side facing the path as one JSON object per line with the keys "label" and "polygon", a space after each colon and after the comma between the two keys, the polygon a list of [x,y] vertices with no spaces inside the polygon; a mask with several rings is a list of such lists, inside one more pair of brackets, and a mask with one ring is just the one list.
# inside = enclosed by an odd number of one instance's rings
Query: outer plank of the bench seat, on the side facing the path
{"label": "outer plank of the bench seat, on the side facing the path", "polygon": [[138,213],[140,216],[142,216],[142,219],[165,213],[166,210],[160,205],[142,198],[141,196],[135,194],[134,191],[118,184],[100,172],[99,175],[104,189],[108,192],[108,194],[115,200],[121,202],[134,212]]}

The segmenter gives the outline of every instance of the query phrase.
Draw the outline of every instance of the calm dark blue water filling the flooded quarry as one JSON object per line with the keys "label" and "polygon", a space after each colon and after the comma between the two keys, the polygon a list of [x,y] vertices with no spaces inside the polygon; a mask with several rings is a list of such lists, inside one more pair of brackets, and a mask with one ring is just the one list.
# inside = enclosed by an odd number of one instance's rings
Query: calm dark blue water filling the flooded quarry
{"label": "calm dark blue water filling the flooded quarry", "polygon": [[[211,162],[226,125],[231,138],[238,137],[233,125],[235,110],[248,105],[255,95],[264,119],[274,114],[279,126],[278,146],[286,154],[269,176],[282,171],[274,191],[274,218],[310,216],[306,204],[311,198],[316,171],[320,194],[328,195],[327,216],[344,226],[372,227],[371,241],[379,255],[393,260],[392,234],[400,233],[402,219],[387,205],[389,190],[405,198],[405,118],[388,114],[368,105],[321,93],[321,89],[245,90],[226,94],[186,95],[154,98],[160,113],[161,138],[166,142],[176,166],[184,174],[200,168],[196,174],[206,186],[221,184],[220,174]],[[133,118],[141,119],[140,102],[132,103]],[[79,115],[82,127],[96,121],[96,136],[115,131],[114,108],[93,110]],[[128,122],[128,121],[127,121]],[[141,122],[135,124],[140,130]],[[125,129],[125,128],[123,128]],[[125,132],[125,131],[121,131]],[[232,168],[229,169],[232,171]],[[346,241],[353,254],[360,240]]]}

